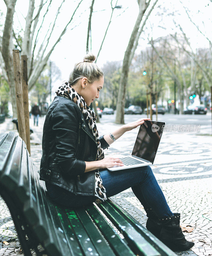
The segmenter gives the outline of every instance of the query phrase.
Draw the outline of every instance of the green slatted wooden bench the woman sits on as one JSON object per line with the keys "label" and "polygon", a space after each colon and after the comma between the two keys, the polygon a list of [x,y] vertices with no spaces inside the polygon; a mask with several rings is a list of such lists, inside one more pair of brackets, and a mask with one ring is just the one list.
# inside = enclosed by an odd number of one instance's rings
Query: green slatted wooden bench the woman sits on
{"label": "green slatted wooden bench the woman sits on", "polygon": [[1,135],[0,195],[25,256],[31,249],[49,256],[176,256],[110,198],[98,206],[66,209],[49,200],[44,184],[18,134]]}

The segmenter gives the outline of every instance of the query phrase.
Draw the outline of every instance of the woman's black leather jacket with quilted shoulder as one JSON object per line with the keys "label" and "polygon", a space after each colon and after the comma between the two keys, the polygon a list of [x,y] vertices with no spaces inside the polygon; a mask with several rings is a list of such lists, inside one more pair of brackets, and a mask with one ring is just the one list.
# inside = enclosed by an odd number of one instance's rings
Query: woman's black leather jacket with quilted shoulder
{"label": "woman's black leather jacket with quilted shoulder", "polygon": [[[100,138],[103,149],[108,143]],[[80,108],[56,96],[48,108],[42,137],[40,180],[75,195],[95,195],[95,171],[85,172],[85,161],[95,161],[97,146]]]}

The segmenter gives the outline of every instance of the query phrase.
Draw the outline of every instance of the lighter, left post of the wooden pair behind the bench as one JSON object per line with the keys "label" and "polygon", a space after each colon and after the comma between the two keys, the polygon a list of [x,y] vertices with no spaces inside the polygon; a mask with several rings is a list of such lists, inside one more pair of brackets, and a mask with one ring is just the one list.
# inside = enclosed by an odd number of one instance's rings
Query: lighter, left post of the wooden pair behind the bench
{"label": "lighter, left post of the wooden pair behind the bench", "polygon": [[21,85],[19,50],[12,50],[12,55],[13,55],[13,66],[14,66],[14,80],[15,80],[15,91],[16,91],[19,135],[22,138],[22,140],[24,140],[26,143],[26,129],[25,129],[25,121],[24,121],[24,104],[23,104],[23,94],[22,94],[22,85]]}

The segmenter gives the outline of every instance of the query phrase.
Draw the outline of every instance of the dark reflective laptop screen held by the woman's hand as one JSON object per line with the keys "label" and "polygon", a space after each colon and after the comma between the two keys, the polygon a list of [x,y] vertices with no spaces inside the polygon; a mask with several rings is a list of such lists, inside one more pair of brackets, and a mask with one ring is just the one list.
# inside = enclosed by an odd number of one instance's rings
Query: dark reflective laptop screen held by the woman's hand
{"label": "dark reflective laptop screen held by the woman's hand", "polygon": [[165,122],[144,121],[140,125],[132,156],[138,156],[153,163]]}

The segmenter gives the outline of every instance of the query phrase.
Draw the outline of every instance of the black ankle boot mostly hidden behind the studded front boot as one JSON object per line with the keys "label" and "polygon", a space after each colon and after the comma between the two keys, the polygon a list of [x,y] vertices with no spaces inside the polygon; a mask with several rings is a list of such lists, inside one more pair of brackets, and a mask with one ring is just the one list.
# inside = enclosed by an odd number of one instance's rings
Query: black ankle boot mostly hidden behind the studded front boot
{"label": "black ankle boot mostly hidden behind the studded front boot", "polygon": [[160,233],[162,229],[161,222],[159,221],[157,215],[151,208],[147,209],[146,212],[148,217],[147,223],[146,223],[147,230],[150,231],[158,239],[160,239]]}

